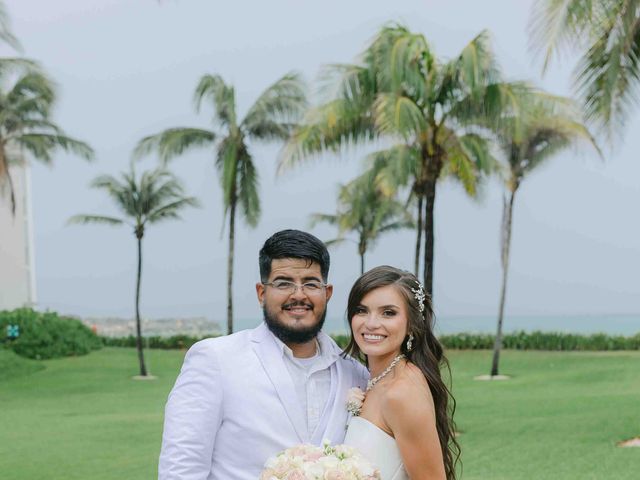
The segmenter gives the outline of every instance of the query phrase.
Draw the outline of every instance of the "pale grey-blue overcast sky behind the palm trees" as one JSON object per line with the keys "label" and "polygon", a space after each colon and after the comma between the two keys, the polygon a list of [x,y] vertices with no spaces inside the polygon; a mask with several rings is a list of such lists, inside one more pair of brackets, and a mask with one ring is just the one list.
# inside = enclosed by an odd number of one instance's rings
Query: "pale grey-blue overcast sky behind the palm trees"
{"label": "pale grey-blue overcast sky behind the palm trees", "polygon": [[[385,23],[423,33],[440,58],[451,58],[483,29],[492,34],[500,66],[511,80],[529,80],[570,95],[576,55],[552,63],[528,45],[532,1],[485,0],[7,0],[25,55],[55,79],[54,119],[96,150],[93,163],[59,153],[53,168],[32,172],[35,261],[40,308],[80,316],[133,315],[136,250],[126,228],[68,226],[78,213],[114,214],[100,191],[100,174],[128,168],[146,135],[176,126],[210,128],[192,95],[205,73],[234,85],[243,115],[257,96],[289,71],[313,90],[323,65],[353,62]],[[3,54],[8,52],[3,51]],[[587,149],[559,154],[532,174],[516,199],[507,315],[603,315],[640,312],[640,109],[624,141],[604,145],[605,159]],[[621,136],[622,137],[622,136]],[[259,321],[257,254],[284,228],[333,238],[328,226],[309,228],[313,212],[335,211],[339,183],[361,170],[366,149],[325,156],[276,175],[279,145],[252,144],[260,174],[262,218],[236,230],[235,312],[239,325]],[[202,203],[182,221],[153,225],[144,240],[142,314],[206,317],[224,323],[226,231],[212,151],[172,162],[189,194]],[[154,167],[149,157],[138,169]],[[500,288],[502,189],[491,181],[480,199],[453,183],[436,200],[434,301],[439,316],[491,316]],[[367,266],[412,269],[414,234],[382,237]],[[359,274],[353,243],[332,248],[335,294],[329,318],[344,318]]]}

